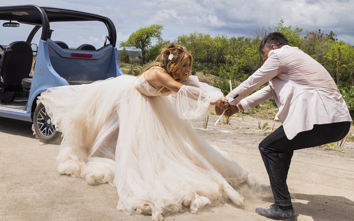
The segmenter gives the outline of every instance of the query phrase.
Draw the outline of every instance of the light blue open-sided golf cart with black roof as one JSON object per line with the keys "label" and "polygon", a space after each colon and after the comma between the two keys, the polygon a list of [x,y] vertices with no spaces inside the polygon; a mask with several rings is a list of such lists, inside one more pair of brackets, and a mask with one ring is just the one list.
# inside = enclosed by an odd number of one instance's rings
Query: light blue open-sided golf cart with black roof
{"label": "light blue open-sided golf cart with black roof", "polygon": [[[61,133],[51,123],[45,107],[36,104],[37,97],[51,87],[88,84],[123,75],[115,47],[114,24],[97,14],[36,5],[2,6],[0,20],[5,21],[2,28],[9,32],[20,23],[33,25],[26,41],[0,45],[0,117],[33,122],[41,141],[57,143]],[[104,23],[108,30],[104,45],[98,49],[90,44],[69,48],[63,41],[51,40],[54,31],[50,29],[51,23],[75,21]],[[39,30],[37,45],[32,40]]]}

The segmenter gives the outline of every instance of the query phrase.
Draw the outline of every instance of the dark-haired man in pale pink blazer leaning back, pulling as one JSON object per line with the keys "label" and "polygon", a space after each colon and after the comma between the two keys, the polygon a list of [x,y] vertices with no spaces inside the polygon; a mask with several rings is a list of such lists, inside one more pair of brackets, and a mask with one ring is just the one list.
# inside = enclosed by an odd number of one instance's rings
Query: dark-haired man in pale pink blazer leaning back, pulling
{"label": "dark-haired man in pale pink blazer leaning back, pulling", "polygon": [[[343,139],[352,118],[328,71],[299,48],[290,47],[283,34],[268,34],[259,50],[264,64],[227,95],[230,105],[225,115],[274,98],[282,126],[259,144],[259,151],[275,203],[256,212],[270,219],[295,220],[286,185],[293,151]],[[268,81],[268,86],[247,97]]]}

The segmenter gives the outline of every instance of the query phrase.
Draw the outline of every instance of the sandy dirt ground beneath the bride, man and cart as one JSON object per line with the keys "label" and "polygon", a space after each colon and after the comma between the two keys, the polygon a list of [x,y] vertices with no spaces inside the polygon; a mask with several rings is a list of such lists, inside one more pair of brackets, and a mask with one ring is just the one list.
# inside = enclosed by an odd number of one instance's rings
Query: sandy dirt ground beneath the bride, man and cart
{"label": "sandy dirt ground beneath the bride, man and cart", "polygon": [[[258,119],[242,122],[232,117],[229,125],[208,128],[202,120],[193,121],[195,129],[210,144],[227,151],[234,161],[269,183],[258,144]],[[266,120],[261,120],[263,124]],[[275,128],[279,122],[267,120]],[[151,216],[126,215],[116,209],[118,194],[108,184],[89,185],[85,179],[61,175],[55,158],[57,145],[39,145],[32,123],[0,118],[0,220],[120,220],[150,221]],[[350,132],[352,133],[352,132]],[[310,139],[310,138],[309,138]],[[321,149],[295,151],[288,186],[297,220],[341,221],[354,217],[354,143],[347,142],[346,153]],[[166,221],[261,221],[256,207],[268,207],[271,198],[246,200],[237,206],[230,202],[216,207],[165,216]]]}

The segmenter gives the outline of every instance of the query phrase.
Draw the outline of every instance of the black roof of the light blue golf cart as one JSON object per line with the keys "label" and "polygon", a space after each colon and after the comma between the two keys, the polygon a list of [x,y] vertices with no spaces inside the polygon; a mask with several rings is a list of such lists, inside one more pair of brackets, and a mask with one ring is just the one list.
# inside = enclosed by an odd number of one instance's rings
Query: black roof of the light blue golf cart
{"label": "black roof of the light blue golf cart", "polygon": [[[50,22],[76,22],[76,21],[100,21],[103,22],[108,29],[111,37],[111,44],[115,46],[116,30],[113,22],[105,16],[98,14],[75,11],[65,8],[55,8],[37,5],[17,5],[17,6],[1,6],[0,20],[17,21],[24,24],[32,24],[41,26],[43,29],[42,40],[47,40]],[[45,33],[44,33],[45,31]]]}

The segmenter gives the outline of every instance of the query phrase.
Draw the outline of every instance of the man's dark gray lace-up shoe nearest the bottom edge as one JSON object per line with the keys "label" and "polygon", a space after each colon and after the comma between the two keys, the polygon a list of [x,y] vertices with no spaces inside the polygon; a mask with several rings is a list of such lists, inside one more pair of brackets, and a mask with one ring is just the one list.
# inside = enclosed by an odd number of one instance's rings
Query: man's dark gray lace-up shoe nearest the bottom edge
{"label": "man's dark gray lace-up shoe nearest the bottom edge", "polygon": [[279,209],[279,207],[275,204],[266,209],[258,207],[256,208],[256,213],[272,220],[295,221],[294,209],[284,211]]}

